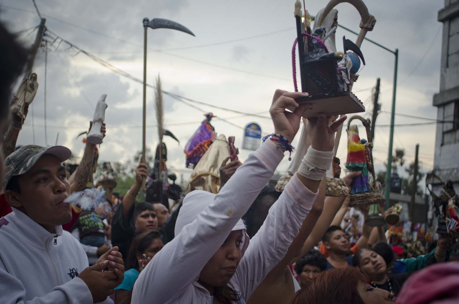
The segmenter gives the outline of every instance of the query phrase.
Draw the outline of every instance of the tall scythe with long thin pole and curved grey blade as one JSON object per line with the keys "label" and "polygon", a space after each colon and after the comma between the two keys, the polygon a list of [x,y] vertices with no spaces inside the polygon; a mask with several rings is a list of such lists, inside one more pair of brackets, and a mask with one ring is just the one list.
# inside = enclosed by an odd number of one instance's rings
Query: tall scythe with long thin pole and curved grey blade
{"label": "tall scythe with long thin pole and curved grey blade", "polygon": [[[143,83],[143,117],[142,117],[142,162],[146,161],[146,38],[147,38],[147,28],[170,28],[175,29],[180,32],[188,33],[192,36],[195,34],[191,32],[188,28],[184,27],[178,22],[174,22],[168,19],[162,18],[153,18],[149,20],[148,18],[143,18],[142,20],[144,26],[144,83]],[[159,163],[160,163],[160,173],[161,173],[161,144],[159,145]],[[144,179],[145,183],[145,179]],[[144,184],[145,185],[145,184]]]}

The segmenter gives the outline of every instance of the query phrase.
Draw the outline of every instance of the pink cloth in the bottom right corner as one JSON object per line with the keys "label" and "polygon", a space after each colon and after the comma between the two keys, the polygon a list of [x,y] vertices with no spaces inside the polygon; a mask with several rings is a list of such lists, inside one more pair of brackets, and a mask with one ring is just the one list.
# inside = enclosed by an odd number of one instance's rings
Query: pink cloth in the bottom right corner
{"label": "pink cloth in the bottom right corner", "polygon": [[459,262],[431,265],[403,284],[397,304],[458,304]]}

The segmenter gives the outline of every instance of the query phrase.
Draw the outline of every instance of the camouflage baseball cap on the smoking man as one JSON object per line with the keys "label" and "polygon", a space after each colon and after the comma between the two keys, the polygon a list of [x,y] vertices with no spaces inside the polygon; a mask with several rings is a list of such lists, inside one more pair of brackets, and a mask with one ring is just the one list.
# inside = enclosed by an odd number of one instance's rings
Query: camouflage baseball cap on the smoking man
{"label": "camouflage baseball cap on the smoking man", "polygon": [[3,191],[6,191],[6,185],[11,177],[22,175],[29,171],[45,154],[56,156],[60,161],[65,161],[72,156],[72,151],[64,146],[54,146],[50,148],[29,144],[17,149],[5,160],[5,181],[3,182]]}

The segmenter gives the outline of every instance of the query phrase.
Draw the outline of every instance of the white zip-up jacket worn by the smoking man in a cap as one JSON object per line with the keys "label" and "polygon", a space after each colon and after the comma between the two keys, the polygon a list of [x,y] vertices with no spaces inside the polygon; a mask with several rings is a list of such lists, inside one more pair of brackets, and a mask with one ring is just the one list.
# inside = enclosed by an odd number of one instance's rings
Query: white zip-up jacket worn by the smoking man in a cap
{"label": "white zip-up jacket worn by the smoking man in a cap", "polygon": [[77,277],[88,267],[80,243],[62,226],[50,233],[12,209],[0,219],[0,303],[92,304],[88,286]]}

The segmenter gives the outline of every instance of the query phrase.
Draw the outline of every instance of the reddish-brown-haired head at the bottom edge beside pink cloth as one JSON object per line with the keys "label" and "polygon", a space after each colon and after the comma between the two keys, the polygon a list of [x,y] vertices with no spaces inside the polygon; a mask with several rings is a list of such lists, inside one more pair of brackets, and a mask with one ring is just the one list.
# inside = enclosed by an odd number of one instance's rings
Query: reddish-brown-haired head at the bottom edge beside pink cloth
{"label": "reddish-brown-haired head at the bottom edge beside pink cloth", "polygon": [[368,284],[357,267],[333,268],[321,272],[295,293],[290,304],[388,304],[392,294]]}

